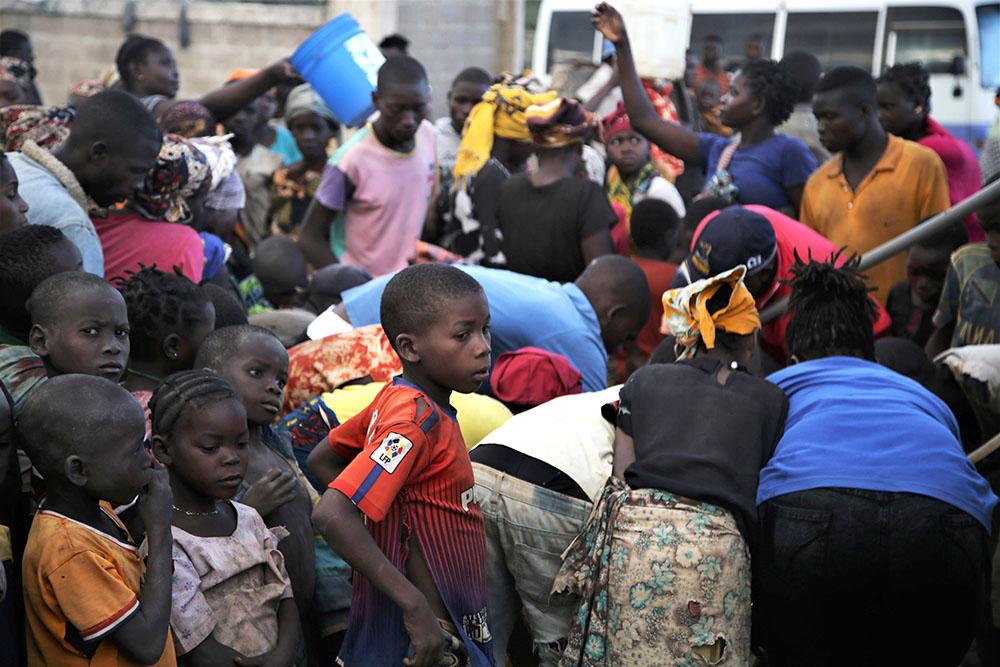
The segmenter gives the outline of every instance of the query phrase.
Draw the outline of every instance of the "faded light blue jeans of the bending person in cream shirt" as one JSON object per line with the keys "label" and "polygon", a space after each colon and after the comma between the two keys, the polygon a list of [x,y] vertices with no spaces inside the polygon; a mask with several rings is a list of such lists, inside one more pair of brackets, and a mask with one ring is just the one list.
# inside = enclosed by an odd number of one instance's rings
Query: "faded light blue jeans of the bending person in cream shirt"
{"label": "faded light blue jeans of the bending person in cream shirt", "polygon": [[554,666],[579,599],[549,592],[563,551],[583,529],[593,505],[479,463],[472,469],[486,522],[493,655],[498,665],[507,664],[507,643],[523,614],[539,665]]}

